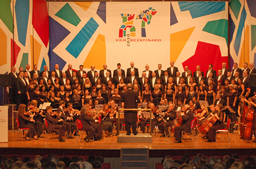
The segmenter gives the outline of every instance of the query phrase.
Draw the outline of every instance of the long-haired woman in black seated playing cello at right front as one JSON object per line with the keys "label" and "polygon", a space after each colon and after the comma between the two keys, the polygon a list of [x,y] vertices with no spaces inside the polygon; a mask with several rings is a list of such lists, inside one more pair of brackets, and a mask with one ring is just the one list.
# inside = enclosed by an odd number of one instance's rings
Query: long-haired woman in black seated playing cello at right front
{"label": "long-haired woman in black seated playing cello at right front", "polygon": [[210,114],[211,116],[215,116],[218,120],[216,123],[209,128],[209,131],[206,133],[207,142],[216,142],[216,130],[224,129],[224,113],[222,111],[223,105],[217,104],[215,107],[215,114]]}

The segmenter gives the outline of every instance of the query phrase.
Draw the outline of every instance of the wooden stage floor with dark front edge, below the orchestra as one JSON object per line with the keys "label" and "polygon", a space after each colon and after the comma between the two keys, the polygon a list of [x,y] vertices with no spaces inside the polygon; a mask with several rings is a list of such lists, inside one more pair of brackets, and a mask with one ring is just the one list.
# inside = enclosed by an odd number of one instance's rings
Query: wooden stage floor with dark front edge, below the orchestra
{"label": "wooden stage floor with dark front edge, below the orchestra", "polygon": [[[47,142],[45,138],[40,138],[39,140],[25,140],[23,137],[17,141],[18,131],[13,132],[9,130],[8,133],[8,143],[0,143],[0,150],[2,155],[10,154],[23,154],[23,155],[48,155],[58,154],[58,155],[101,155],[103,157],[120,157],[121,148],[144,148],[147,147],[150,150],[150,157],[163,157],[164,155],[171,156],[182,156],[184,153],[189,155],[197,155],[202,153],[205,156],[211,155],[256,155],[256,143],[247,140],[240,139],[239,135],[230,134],[230,143],[228,142],[228,137],[226,133],[218,133],[217,142],[208,143],[205,139],[196,139],[195,142],[185,135],[185,139],[182,143],[174,144],[175,141],[173,134],[167,139],[165,137],[160,137],[160,133],[153,136],[153,143],[117,143],[117,136],[103,137],[100,141],[86,143],[83,139],[82,142],[76,139],[68,139],[65,143],[60,143],[57,140],[57,135],[52,134]],[[45,135],[44,135],[45,136]],[[84,136],[83,136],[84,138]]]}

